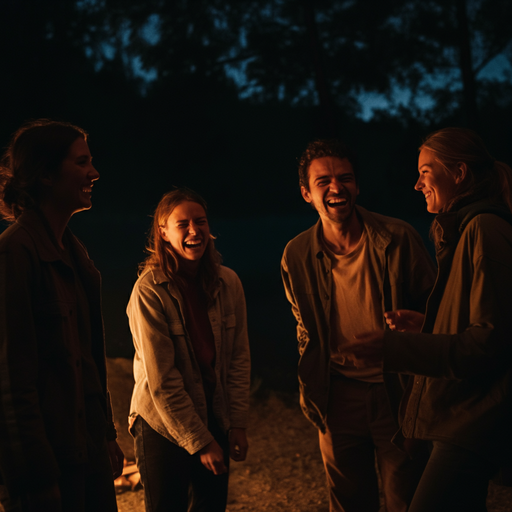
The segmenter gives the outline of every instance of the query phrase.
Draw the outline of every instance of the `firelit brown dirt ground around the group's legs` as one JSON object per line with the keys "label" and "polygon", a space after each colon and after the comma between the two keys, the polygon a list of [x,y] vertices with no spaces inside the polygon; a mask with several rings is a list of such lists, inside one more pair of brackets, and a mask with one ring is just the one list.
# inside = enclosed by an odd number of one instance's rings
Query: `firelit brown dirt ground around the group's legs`
{"label": "firelit brown dirt ground around the group's legs", "polygon": [[[109,388],[119,442],[133,460],[126,430],[133,377],[131,360],[109,359]],[[328,496],[316,429],[295,397],[270,393],[254,399],[247,460],[231,464],[228,512],[327,512]],[[144,512],[143,491],[117,496],[119,512]],[[488,512],[512,511],[512,488],[491,484]]]}

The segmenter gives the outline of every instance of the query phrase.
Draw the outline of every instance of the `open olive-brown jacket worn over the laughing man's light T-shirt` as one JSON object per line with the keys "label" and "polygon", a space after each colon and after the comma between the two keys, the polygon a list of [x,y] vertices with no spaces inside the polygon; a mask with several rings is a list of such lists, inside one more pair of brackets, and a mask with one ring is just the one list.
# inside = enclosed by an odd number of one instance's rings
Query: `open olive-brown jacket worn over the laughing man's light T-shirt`
{"label": "open olive-brown jacket worn over the laughing man's light T-shirt", "polygon": [[[368,232],[370,257],[380,269],[382,310],[408,308],[424,311],[434,283],[433,262],[418,233],[406,222],[357,207]],[[330,314],[333,293],[331,261],[321,242],[322,223],[304,231],[285,248],[281,262],[286,296],[297,320],[299,387],[306,417],[325,432],[330,385]],[[382,318],[382,328],[386,326]],[[384,376],[392,410],[405,383]],[[398,421],[397,421],[398,426]]]}

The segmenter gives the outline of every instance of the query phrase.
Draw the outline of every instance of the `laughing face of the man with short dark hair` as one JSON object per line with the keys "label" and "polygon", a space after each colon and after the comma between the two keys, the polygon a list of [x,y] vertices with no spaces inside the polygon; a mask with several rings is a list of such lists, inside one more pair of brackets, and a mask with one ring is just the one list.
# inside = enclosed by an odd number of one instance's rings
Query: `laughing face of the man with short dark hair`
{"label": "laughing face of the man with short dark hair", "polygon": [[352,164],[346,158],[324,156],[309,166],[309,190],[301,187],[302,197],[322,220],[343,223],[350,219],[359,194]]}

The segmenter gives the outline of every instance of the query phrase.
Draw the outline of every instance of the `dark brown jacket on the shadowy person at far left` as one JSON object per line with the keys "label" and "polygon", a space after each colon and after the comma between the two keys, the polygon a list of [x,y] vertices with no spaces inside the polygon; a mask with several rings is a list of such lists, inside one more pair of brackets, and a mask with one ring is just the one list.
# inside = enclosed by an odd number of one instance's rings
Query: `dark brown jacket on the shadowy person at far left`
{"label": "dark brown jacket on the shadowy person at far left", "polygon": [[[91,351],[114,439],[100,275],[78,239],[65,236],[89,302]],[[27,211],[0,235],[0,469],[16,491],[33,475],[41,486],[56,483],[62,465],[87,458],[74,279],[42,214]]]}

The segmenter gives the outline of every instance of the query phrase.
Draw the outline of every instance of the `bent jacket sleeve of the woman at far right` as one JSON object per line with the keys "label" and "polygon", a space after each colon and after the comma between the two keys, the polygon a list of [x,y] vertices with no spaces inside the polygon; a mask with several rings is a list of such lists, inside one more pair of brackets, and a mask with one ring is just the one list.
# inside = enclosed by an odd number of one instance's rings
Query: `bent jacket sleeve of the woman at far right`
{"label": "bent jacket sleeve of the woman at far right", "polygon": [[441,332],[386,332],[385,371],[464,379],[511,357],[512,227],[481,222],[466,228],[452,263],[436,318]]}

